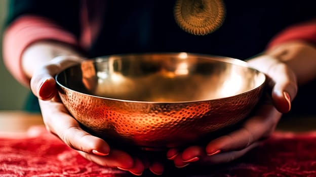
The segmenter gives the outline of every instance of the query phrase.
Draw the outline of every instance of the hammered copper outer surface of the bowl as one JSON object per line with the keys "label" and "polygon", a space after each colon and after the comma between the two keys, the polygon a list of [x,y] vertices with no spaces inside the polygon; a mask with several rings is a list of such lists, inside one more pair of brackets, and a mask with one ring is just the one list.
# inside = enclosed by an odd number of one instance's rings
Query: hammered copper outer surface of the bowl
{"label": "hammered copper outer surface of the bowl", "polygon": [[70,114],[94,135],[142,148],[179,147],[234,125],[258,103],[264,84],[233,97],[197,102],[111,100],[59,86]]}

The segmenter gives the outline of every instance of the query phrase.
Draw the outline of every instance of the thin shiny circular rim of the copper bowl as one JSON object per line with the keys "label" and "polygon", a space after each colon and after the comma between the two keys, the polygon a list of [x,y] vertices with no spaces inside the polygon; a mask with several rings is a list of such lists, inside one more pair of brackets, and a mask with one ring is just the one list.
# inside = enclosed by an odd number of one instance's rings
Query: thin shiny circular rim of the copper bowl
{"label": "thin shiny circular rim of the copper bowl", "polygon": [[[122,57],[122,56],[144,56],[144,55],[164,55],[164,56],[168,56],[168,55],[172,55],[172,56],[176,56],[176,55],[181,55],[181,54],[186,54],[188,57],[192,56],[192,57],[202,57],[205,59],[210,60],[210,57],[212,57],[212,60],[215,61],[220,61],[220,62],[226,62],[226,63],[230,63],[233,65],[239,65],[241,67],[246,67],[248,69],[254,70],[255,72],[257,72],[258,74],[262,75],[261,77],[263,77],[262,79],[262,83],[260,83],[258,86],[254,87],[253,89],[250,89],[246,92],[242,92],[233,96],[227,96],[227,97],[221,97],[221,98],[216,98],[216,99],[204,99],[204,100],[192,100],[192,101],[137,101],[137,100],[127,100],[127,99],[115,99],[115,98],[107,98],[107,97],[101,97],[101,96],[95,96],[95,95],[91,95],[91,94],[86,94],[86,93],[82,93],[82,92],[78,92],[75,90],[70,89],[69,87],[66,87],[65,85],[62,85],[59,81],[58,81],[58,76],[64,72],[66,69],[74,67],[74,66],[78,66],[81,65],[82,62],[85,61],[93,61],[93,62],[98,62],[98,59],[104,59],[104,58],[109,58],[109,57]],[[197,103],[197,102],[208,102],[208,101],[219,101],[219,100],[223,100],[223,99],[229,99],[232,97],[236,97],[236,96],[242,96],[245,94],[248,94],[250,92],[253,92],[254,90],[260,89],[261,87],[263,87],[266,83],[266,75],[253,68],[250,67],[246,61],[240,60],[240,59],[236,59],[236,58],[231,58],[231,57],[224,57],[224,56],[217,56],[217,55],[209,55],[209,54],[200,54],[200,53],[187,53],[187,52],[169,52],[169,53],[160,53],[160,52],[150,52],[150,53],[126,53],[126,54],[112,54],[112,55],[104,55],[104,56],[100,56],[100,57],[95,57],[95,58],[88,58],[87,60],[84,60],[80,63],[71,65],[67,68],[65,68],[64,70],[58,72],[55,75],[55,81],[57,83],[56,86],[62,87],[65,90],[77,93],[77,94],[81,94],[81,95],[85,95],[85,96],[89,96],[89,97],[94,97],[94,98],[98,98],[98,99],[102,99],[102,100],[111,100],[111,101],[118,101],[118,102],[128,102],[128,103],[146,103],[146,104],[184,104],[184,103]],[[59,91],[58,91],[59,92]]]}

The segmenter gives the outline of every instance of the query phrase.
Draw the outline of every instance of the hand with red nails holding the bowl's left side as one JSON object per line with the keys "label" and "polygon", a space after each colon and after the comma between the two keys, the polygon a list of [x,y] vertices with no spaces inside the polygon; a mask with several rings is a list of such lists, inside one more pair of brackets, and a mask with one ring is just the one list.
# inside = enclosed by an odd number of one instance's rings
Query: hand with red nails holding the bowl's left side
{"label": "hand with red nails holding the bowl's left side", "polygon": [[[30,86],[39,100],[47,130],[90,161],[141,175],[149,163],[145,163],[138,157],[132,157],[122,150],[110,149],[104,140],[84,131],[60,101],[54,75],[82,61],[83,58],[80,57],[59,56],[33,73]],[[154,166],[149,169],[155,172],[161,170],[161,173],[163,170],[161,166],[158,169]]]}

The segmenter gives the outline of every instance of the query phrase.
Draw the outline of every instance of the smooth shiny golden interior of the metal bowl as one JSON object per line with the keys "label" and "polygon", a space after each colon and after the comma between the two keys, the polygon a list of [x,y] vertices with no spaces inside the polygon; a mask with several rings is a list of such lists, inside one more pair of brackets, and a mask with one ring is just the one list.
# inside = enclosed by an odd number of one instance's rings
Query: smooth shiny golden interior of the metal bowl
{"label": "smooth shiny golden interior of the metal bowl", "polygon": [[95,58],[62,71],[56,80],[70,90],[108,99],[190,102],[249,92],[265,76],[237,59],[172,53]]}

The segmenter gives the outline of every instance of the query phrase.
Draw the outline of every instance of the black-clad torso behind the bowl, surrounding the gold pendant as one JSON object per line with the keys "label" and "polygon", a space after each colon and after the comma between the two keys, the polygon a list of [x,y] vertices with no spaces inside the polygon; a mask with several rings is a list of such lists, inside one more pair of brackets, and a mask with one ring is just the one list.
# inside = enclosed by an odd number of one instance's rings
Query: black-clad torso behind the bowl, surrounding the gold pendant
{"label": "black-clad torso behind the bowl, surrounding the gold pendant", "polygon": [[141,52],[190,52],[247,59],[285,27],[315,17],[313,1],[224,1],[222,26],[208,35],[183,31],[175,1],[107,1],[91,57]]}

